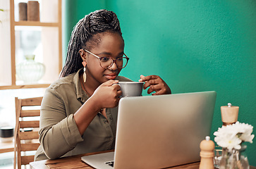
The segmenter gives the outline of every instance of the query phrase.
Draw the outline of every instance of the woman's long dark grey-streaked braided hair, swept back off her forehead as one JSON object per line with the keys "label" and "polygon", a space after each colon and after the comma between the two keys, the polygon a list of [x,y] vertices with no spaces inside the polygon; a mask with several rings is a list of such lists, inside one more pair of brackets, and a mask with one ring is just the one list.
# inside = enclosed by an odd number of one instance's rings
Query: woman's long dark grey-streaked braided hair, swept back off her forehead
{"label": "woman's long dark grey-streaked braided hair, swept back off her forehead", "polygon": [[85,18],[78,21],[68,42],[66,63],[61,70],[60,77],[65,77],[83,68],[79,50],[82,48],[90,50],[99,44],[100,36],[97,35],[102,32],[117,32],[122,37],[116,13],[102,9],[85,15]]}

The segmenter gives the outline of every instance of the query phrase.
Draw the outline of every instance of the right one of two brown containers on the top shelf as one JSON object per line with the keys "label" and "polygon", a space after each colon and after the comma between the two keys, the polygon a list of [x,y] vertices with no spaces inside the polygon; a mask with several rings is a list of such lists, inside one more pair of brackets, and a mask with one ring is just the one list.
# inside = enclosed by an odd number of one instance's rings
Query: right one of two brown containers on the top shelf
{"label": "right one of two brown containers on the top shelf", "polygon": [[28,20],[39,21],[39,2],[38,1],[28,1]]}

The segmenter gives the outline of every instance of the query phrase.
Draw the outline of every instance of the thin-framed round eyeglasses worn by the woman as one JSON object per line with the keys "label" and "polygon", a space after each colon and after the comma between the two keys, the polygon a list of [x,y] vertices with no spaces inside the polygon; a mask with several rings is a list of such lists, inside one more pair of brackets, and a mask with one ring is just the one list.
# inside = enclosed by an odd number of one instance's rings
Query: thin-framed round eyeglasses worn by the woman
{"label": "thin-framed round eyeglasses worn by the woman", "polygon": [[[86,49],[83,49],[84,51],[88,52],[89,54],[92,54],[92,52],[87,51]],[[120,58],[111,58],[111,57],[99,57],[95,54],[92,54],[96,58],[99,58],[99,63],[102,68],[108,69],[111,68],[111,66],[116,63],[117,68],[125,68],[129,58],[126,56],[126,54],[123,54],[125,57],[120,57]]]}

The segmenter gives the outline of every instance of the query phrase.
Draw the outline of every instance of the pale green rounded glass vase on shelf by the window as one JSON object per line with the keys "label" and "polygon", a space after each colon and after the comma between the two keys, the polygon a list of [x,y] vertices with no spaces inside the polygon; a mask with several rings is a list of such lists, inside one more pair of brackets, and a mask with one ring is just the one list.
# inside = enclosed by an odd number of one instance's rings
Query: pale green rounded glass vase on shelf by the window
{"label": "pale green rounded glass vase on shelf by the window", "polygon": [[44,75],[45,66],[35,61],[35,55],[26,55],[25,61],[16,65],[16,75],[25,84],[37,83]]}

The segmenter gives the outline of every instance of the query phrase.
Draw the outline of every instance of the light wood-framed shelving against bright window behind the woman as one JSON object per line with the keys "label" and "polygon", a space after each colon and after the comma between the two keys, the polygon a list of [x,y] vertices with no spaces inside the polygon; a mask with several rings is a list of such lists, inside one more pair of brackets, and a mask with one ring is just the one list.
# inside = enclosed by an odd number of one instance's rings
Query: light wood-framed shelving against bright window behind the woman
{"label": "light wood-framed shelving against bright window behind the woman", "polygon": [[[3,18],[6,22],[1,27],[6,41],[0,42],[4,56],[0,57],[0,89],[44,88],[59,79],[62,69],[61,0],[38,1],[40,21],[19,20],[20,0],[6,0],[2,7],[6,9],[6,18]],[[45,66],[44,75],[35,80],[37,82],[26,82],[20,77],[20,69],[16,70],[27,55],[35,55],[35,62]]]}

